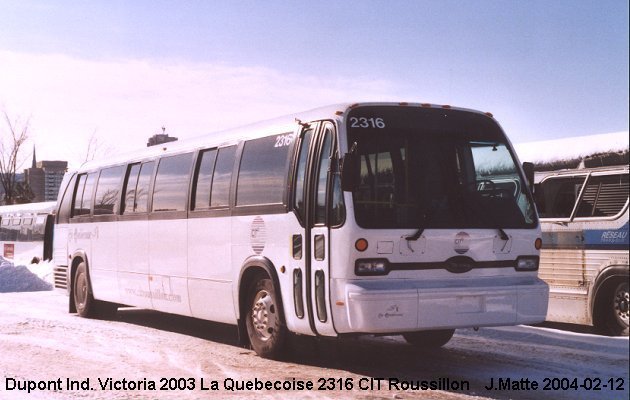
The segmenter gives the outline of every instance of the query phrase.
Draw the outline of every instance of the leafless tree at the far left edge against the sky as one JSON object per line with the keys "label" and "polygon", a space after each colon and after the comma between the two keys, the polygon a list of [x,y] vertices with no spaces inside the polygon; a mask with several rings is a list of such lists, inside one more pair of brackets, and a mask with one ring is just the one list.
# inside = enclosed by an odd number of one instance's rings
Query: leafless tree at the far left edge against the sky
{"label": "leafless tree at the far left edge against the sky", "polygon": [[0,183],[4,188],[5,204],[15,203],[17,193],[17,183],[15,173],[20,166],[18,156],[20,147],[28,139],[29,120],[20,123],[19,120],[11,121],[9,115],[4,111],[4,121],[7,132],[0,132]]}

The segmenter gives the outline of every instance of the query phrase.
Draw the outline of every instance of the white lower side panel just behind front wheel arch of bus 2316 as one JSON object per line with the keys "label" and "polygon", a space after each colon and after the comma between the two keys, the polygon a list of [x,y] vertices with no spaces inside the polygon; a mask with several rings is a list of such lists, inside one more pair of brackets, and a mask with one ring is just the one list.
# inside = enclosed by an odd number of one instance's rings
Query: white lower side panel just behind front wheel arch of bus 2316
{"label": "white lower side panel just behind front wheel arch of bus 2316", "polygon": [[188,293],[193,317],[236,323],[232,301],[231,217],[188,220]]}

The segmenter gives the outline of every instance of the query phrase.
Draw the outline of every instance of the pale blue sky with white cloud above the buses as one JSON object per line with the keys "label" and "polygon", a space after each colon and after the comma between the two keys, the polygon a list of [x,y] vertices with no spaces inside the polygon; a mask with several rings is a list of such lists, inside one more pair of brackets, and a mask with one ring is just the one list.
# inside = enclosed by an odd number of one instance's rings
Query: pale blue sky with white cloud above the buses
{"label": "pale blue sky with white cloud above the buses", "polygon": [[92,135],[132,150],[163,125],[186,138],[356,100],[491,111],[517,143],[628,130],[625,0],[0,0],[0,15],[0,109],[30,118],[47,159]]}

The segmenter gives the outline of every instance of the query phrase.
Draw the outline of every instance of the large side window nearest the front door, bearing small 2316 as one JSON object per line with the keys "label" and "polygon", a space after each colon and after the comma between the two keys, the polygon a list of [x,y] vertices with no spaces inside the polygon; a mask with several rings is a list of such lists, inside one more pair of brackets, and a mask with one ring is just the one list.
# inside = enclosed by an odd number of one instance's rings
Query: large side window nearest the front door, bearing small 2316
{"label": "large side window nearest the front door, bearing small 2316", "polygon": [[287,157],[293,134],[245,142],[236,187],[236,205],[282,204]]}

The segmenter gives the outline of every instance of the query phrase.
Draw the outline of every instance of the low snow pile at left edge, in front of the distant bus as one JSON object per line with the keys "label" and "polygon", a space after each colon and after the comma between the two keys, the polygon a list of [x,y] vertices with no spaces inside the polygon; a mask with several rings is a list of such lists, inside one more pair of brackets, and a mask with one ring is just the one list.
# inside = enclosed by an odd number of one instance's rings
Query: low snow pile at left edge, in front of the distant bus
{"label": "low snow pile at left edge, in front of the distant bus", "polygon": [[52,290],[52,263],[16,266],[5,259],[0,261],[0,293]]}

